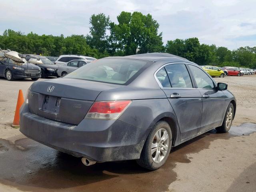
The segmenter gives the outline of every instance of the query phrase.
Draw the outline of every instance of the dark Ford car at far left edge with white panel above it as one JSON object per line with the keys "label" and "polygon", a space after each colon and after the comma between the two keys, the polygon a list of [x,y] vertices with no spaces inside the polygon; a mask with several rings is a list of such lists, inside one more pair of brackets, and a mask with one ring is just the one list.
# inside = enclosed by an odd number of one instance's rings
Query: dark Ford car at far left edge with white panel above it
{"label": "dark Ford car at far left edge with white panel above it", "polygon": [[0,58],[0,76],[5,77],[7,80],[31,78],[38,80],[41,77],[40,67],[27,63],[16,63],[10,58]]}

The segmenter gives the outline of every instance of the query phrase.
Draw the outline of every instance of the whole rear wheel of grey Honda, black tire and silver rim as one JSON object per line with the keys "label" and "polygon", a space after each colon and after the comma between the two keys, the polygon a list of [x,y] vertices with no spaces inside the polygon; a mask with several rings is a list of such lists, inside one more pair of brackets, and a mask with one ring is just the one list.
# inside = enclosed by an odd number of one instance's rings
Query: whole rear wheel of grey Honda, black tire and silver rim
{"label": "whole rear wheel of grey Honda, black tire and silver rim", "polygon": [[160,168],[168,158],[172,147],[172,130],[165,121],[159,121],[149,133],[136,162],[149,170]]}

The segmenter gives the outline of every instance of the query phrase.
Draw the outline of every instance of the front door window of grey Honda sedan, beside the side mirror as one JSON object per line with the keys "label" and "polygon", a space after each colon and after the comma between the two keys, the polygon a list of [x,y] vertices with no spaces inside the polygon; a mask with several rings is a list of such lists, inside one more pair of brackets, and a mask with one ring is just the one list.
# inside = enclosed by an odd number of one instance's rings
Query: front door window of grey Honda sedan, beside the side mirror
{"label": "front door window of grey Honda sedan, beside the side mirror", "polygon": [[215,87],[212,79],[203,70],[194,65],[189,65],[189,68],[196,80],[197,88],[213,89]]}

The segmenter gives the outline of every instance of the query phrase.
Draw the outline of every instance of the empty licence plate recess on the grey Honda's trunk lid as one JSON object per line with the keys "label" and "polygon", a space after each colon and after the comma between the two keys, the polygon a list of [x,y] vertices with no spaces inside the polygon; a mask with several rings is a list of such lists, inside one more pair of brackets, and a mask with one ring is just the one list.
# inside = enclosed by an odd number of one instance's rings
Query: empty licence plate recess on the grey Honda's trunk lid
{"label": "empty licence plate recess on the grey Honda's trunk lid", "polygon": [[51,112],[54,114],[58,114],[60,110],[60,97],[55,96],[44,96],[43,104],[42,104],[42,110]]}

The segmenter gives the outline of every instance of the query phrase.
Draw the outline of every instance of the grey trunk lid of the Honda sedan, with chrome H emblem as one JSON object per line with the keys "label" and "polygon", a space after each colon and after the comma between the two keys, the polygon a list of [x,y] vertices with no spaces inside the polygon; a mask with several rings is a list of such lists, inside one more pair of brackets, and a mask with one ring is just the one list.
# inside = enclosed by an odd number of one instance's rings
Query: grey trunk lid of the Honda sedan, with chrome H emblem
{"label": "grey trunk lid of the Honda sedan, with chrome H emblem", "polygon": [[30,88],[28,106],[39,116],[77,125],[100,92],[119,86],[72,78],[38,81]]}

